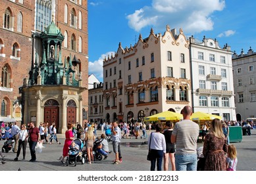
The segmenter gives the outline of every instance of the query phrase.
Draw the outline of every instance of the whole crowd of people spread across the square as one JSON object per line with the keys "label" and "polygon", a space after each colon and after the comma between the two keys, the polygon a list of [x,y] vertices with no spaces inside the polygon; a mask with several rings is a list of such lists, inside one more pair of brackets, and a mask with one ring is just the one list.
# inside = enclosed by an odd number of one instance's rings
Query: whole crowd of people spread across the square
{"label": "whole crowd of people spread across the square", "polygon": [[[65,132],[65,140],[63,152],[59,160],[65,162],[66,156],[70,150],[78,150],[74,144],[74,139],[81,139],[85,145],[85,150],[88,156],[88,164],[93,163],[93,145],[95,140],[99,141],[97,146],[98,151],[107,158],[111,153],[109,143],[107,141],[106,130],[111,131],[111,141],[113,144],[113,152],[115,160],[113,164],[122,162],[122,154],[120,149],[121,139],[147,139],[147,144],[151,150],[151,166],[150,170],[167,171],[170,168],[172,171],[195,171],[197,170],[197,139],[199,130],[203,141],[202,154],[205,158],[203,170],[208,171],[223,171],[236,170],[238,164],[236,147],[230,145],[229,141],[229,126],[246,127],[248,135],[251,135],[249,129],[251,124],[222,122],[214,119],[212,122],[205,122],[202,126],[190,120],[192,116],[191,106],[184,106],[181,112],[183,120],[173,124],[170,121],[157,123],[154,125],[155,131],[151,131],[151,124],[148,124],[147,131],[145,122],[112,122],[103,123],[101,125],[101,135],[97,137],[97,124],[68,124]],[[163,126],[164,125],[164,126]],[[57,144],[61,144],[57,138],[56,125],[53,122],[50,126],[48,123],[41,123],[39,127],[34,125],[34,122],[28,123],[28,126],[21,124],[20,127],[13,124],[0,124],[1,138],[14,139],[14,152],[16,152],[15,161],[20,156],[22,150],[22,160],[26,159],[26,145],[29,144],[31,159],[30,162],[36,161],[36,145],[38,143],[52,144],[53,140]],[[5,137],[3,137],[3,129]],[[147,134],[149,135],[147,136]],[[50,135],[50,137],[48,137]],[[72,144],[73,143],[73,144]],[[170,160],[170,162],[169,162]]]}

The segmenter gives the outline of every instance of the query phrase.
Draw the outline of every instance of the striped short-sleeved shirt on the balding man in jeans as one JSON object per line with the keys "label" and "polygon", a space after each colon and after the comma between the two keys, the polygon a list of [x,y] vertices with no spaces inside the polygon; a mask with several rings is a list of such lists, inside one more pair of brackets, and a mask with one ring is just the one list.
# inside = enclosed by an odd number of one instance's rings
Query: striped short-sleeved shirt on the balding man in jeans
{"label": "striped short-sleeved shirt on the balding man in jeans", "polygon": [[191,120],[177,122],[172,131],[176,136],[175,154],[196,154],[199,125]]}

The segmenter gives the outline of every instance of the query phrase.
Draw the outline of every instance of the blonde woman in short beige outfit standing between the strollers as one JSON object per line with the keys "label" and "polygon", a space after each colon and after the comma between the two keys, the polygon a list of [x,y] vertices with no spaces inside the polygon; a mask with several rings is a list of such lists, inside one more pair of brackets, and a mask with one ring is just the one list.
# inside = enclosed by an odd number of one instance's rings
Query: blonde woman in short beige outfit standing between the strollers
{"label": "blonde woman in short beige outfit standing between the strollers", "polygon": [[93,160],[93,142],[95,141],[95,135],[93,133],[93,127],[89,126],[88,131],[86,132],[86,136],[84,138],[86,141],[86,150],[88,156],[88,164],[91,164],[91,160]]}

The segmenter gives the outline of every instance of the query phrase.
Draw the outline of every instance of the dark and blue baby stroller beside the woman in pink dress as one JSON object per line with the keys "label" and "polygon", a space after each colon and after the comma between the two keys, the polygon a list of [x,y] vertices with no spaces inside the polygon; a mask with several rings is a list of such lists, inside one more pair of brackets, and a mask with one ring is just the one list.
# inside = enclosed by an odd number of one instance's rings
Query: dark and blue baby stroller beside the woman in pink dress
{"label": "dark and blue baby stroller beside the woman in pink dress", "polygon": [[[84,144],[81,139],[74,139],[72,143],[76,143],[78,145],[78,150],[70,147],[70,150],[68,151],[68,156],[66,157],[66,166],[68,164],[72,164],[76,166],[76,162],[82,162],[84,164],[86,162],[86,157],[84,153],[82,152],[82,149],[84,147]],[[71,145],[72,145],[71,143]]]}

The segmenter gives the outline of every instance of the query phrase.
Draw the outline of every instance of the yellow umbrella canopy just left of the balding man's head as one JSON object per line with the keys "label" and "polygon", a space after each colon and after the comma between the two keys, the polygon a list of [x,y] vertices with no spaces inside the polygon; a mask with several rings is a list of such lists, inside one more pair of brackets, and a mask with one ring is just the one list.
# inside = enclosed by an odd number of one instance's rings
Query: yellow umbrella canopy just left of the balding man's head
{"label": "yellow umbrella canopy just left of the balding man's head", "polygon": [[158,114],[149,116],[145,118],[145,121],[161,121],[161,120],[180,121],[182,119],[183,119],[182,114],[171,112],[171,111],[165,111],[165,112],[160,112]]}

